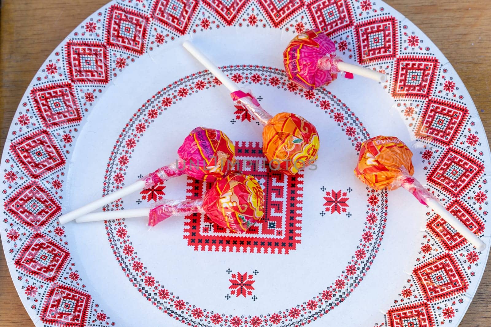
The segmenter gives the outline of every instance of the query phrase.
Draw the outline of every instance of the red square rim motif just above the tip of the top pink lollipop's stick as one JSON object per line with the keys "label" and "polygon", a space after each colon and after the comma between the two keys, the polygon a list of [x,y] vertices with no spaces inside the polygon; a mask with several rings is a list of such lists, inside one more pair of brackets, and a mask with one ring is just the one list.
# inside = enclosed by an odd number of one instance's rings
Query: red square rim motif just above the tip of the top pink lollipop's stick
{"label": "red square rim motif just above the tip of the top pink lollipop's stick", "polygon": [[376,18],[355,26],[360,64],[392,59],[397,55],[397,24],[394,17]]}

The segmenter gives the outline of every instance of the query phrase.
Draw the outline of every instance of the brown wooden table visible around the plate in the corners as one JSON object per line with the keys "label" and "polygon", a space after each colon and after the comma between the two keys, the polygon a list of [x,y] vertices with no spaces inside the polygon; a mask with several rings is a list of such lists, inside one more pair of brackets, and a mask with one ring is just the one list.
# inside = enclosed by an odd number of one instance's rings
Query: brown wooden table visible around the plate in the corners
{"label": "brown wooden table visible around the plate in the corners", "polygon": [[[377,1],[377,0],[375,0]],[[491,135],[491,2],[386,0],[428,35],[464,81]],[[55,47],[106,0],[1,0],[0,148],[30,80]],[[491,261],[490,261],[491,262]],[[491,326],[491,265],[461,327]],[[116,319],[117,320],[117,319]],[[0,326],[32,326],[0,250]]]}

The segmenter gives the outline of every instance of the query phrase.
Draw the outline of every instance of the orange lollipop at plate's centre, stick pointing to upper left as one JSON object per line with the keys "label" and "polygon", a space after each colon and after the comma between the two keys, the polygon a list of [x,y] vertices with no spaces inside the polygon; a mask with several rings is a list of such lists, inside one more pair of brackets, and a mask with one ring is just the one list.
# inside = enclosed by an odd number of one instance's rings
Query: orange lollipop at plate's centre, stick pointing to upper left
{"label": "orange lollipop at plate's centre, stick pointing to upper left", "polygon": [[315,126],[292,113],[281,112],[271,116],[250,91],[239,89],[192,43],[185,41],[183,46],[225,85],[236,104],[245,106],[251,116],[264,126],[263,152],[273,170],[295,175],[317,160],[319,134]]}

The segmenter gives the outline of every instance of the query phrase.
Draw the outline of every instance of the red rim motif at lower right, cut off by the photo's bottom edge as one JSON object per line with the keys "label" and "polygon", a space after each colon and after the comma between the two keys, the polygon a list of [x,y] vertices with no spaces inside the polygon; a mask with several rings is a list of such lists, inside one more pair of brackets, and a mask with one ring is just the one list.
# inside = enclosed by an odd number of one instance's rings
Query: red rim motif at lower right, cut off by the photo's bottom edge
{"label": "red rim motif at lower right, cut off by the photo's bottom edge", "polygon": [[435,327],[435,318],[426,302],[390,309],[387,321],[389,327]]}

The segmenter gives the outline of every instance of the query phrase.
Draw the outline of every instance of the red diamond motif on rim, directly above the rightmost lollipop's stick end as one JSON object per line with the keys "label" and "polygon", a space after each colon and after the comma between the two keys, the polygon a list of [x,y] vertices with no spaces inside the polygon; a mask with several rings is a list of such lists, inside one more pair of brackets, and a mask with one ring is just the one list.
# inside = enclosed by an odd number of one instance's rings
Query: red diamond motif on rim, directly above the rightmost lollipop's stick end
{"label": "red diamond motif on rim, directly above the rightmost lollipop's stick end", "polygon": [[426,178],[452,198],[459,198],[483,174],[484,165],[464,151],[448,148]]}

